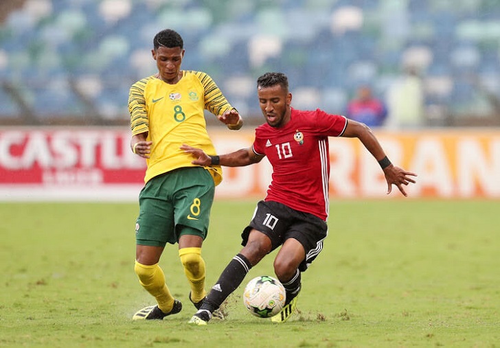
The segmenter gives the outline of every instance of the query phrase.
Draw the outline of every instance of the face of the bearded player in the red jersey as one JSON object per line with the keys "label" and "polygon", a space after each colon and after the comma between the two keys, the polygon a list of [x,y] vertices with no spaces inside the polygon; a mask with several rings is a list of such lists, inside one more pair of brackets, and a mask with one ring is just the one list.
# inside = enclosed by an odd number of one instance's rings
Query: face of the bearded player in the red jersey
{"label": "face of the bearded player in the red jersey", "polygon": [[290,121],[290,104],[292,94],[286,91],[280,84],[270,87],[258,87],[260,110],[267,124],[271,127],[282,127]]}

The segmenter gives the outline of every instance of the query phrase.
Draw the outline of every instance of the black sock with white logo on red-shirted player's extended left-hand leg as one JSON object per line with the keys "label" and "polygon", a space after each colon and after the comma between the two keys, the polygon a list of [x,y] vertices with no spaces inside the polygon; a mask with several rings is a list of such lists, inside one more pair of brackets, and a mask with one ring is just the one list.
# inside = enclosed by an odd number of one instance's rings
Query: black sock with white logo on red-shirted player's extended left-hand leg
{"label": "black sock with white logo on red-shirted player's extended left-hand leg", "polygon": [[203,301],[200,309],[214,312],[214,310],[219,308],[229,294],[240,286],[250,268],[251,265],[247,257],[241,254],[233,257],[220,274],[217,283],[212,286],[212,290],[210,290],[207,298]]}

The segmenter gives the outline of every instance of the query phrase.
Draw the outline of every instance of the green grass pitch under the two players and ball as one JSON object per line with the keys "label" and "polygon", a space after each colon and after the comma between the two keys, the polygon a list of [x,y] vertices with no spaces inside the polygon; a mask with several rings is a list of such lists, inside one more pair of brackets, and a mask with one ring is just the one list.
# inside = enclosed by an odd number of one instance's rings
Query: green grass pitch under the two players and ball
{"label": "green grass pitch under the two players and ball", "polygon": [[[240,250],[255,200],[216,201],[203,248],[207,288]],[[152,303],[133,272],[135,204],[0,204],[0,347],[498,347],[500,201],[332,202],[323,252],[298,310],[276,325],[230,298],[227,321],[192,327],[188,283],[161,260],[183,311],[130,317]]]}

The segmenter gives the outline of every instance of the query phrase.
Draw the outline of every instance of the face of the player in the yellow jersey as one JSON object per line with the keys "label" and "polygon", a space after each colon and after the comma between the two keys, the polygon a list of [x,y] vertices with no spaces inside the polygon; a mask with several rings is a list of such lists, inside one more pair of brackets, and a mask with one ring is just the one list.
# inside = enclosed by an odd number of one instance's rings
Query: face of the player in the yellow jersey
{"label": "face of the player in the yellow jersey", "polygon": [[152,50],[152,58],[157,61],[161,80],[170,84],[179,82],[182,58],[184,58],[184,50],[181,47],[160,46]]}

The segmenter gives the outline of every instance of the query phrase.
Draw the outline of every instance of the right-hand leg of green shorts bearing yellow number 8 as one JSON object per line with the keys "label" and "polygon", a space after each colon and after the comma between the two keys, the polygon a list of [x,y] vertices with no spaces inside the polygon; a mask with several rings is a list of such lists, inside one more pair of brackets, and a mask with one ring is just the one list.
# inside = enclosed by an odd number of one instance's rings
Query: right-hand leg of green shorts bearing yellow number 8
{"label": "right-hand leg of green shorts bearing yellow number 8", "polygon": [[214,179],[202,167],[185,168],[180,173],[173,198],[177,237],[199,235],[205,239],[214,202]]}

